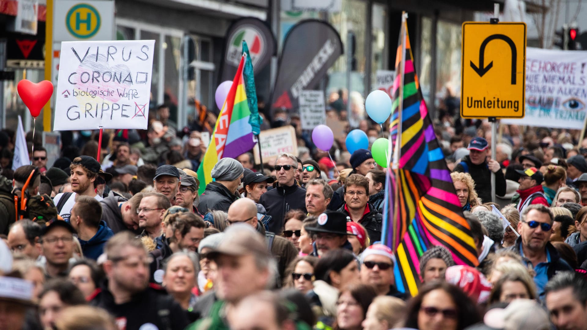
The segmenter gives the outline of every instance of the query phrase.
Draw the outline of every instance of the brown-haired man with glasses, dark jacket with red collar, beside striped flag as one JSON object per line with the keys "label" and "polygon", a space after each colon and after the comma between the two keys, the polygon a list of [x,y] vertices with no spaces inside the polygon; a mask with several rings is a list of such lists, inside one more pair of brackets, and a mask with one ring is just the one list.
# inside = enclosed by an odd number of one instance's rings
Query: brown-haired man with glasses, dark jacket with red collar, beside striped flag
{"label": "brown-haired man with glasses, dark jacket with red collar, beside striped flag", "polygon": [[360,174],[350,174],[346,178],[344,192],[345,204],[338,211],[362,224],[369,233],[370,241],[380,241],[383,216],[369,204],[369,179]]}

